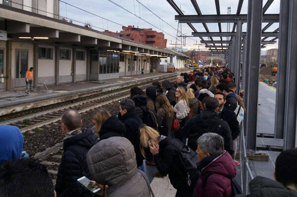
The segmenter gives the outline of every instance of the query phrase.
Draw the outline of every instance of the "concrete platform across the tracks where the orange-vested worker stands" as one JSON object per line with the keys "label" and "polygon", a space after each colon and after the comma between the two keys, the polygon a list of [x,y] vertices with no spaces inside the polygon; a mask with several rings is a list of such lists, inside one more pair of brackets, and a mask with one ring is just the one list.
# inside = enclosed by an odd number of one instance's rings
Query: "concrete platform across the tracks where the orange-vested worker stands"
{"label": "concrete platform across the tracks where the orange-vested worker stands", "polygon": [[[110,88],[112,86],[122,85],[130,82],[137,82],[145,79],[157,79],[162,76],[174,75],[174,73],[149,73],[145,75],[135,75],[129,77],[120,77],[117,79],[105,79],[100,81],[81,81],[76,83],[63,83],[58,85],[48,85],[46,88],[38,87],[29,94],[25,93],[26,88],[19,88],[16,91],[1,91],[0,92],[0,108],[17,105],[19,103],[32,102],[34,100],[43,100],[47,98],[54,98],[63,95],[71,94],[71,91],[89,91],[100,88]],[[37,89],[39,91],[37,91]],[[108,91],[108,90],[106,90]],[[73,92],[75,93],[75,92]]]}

